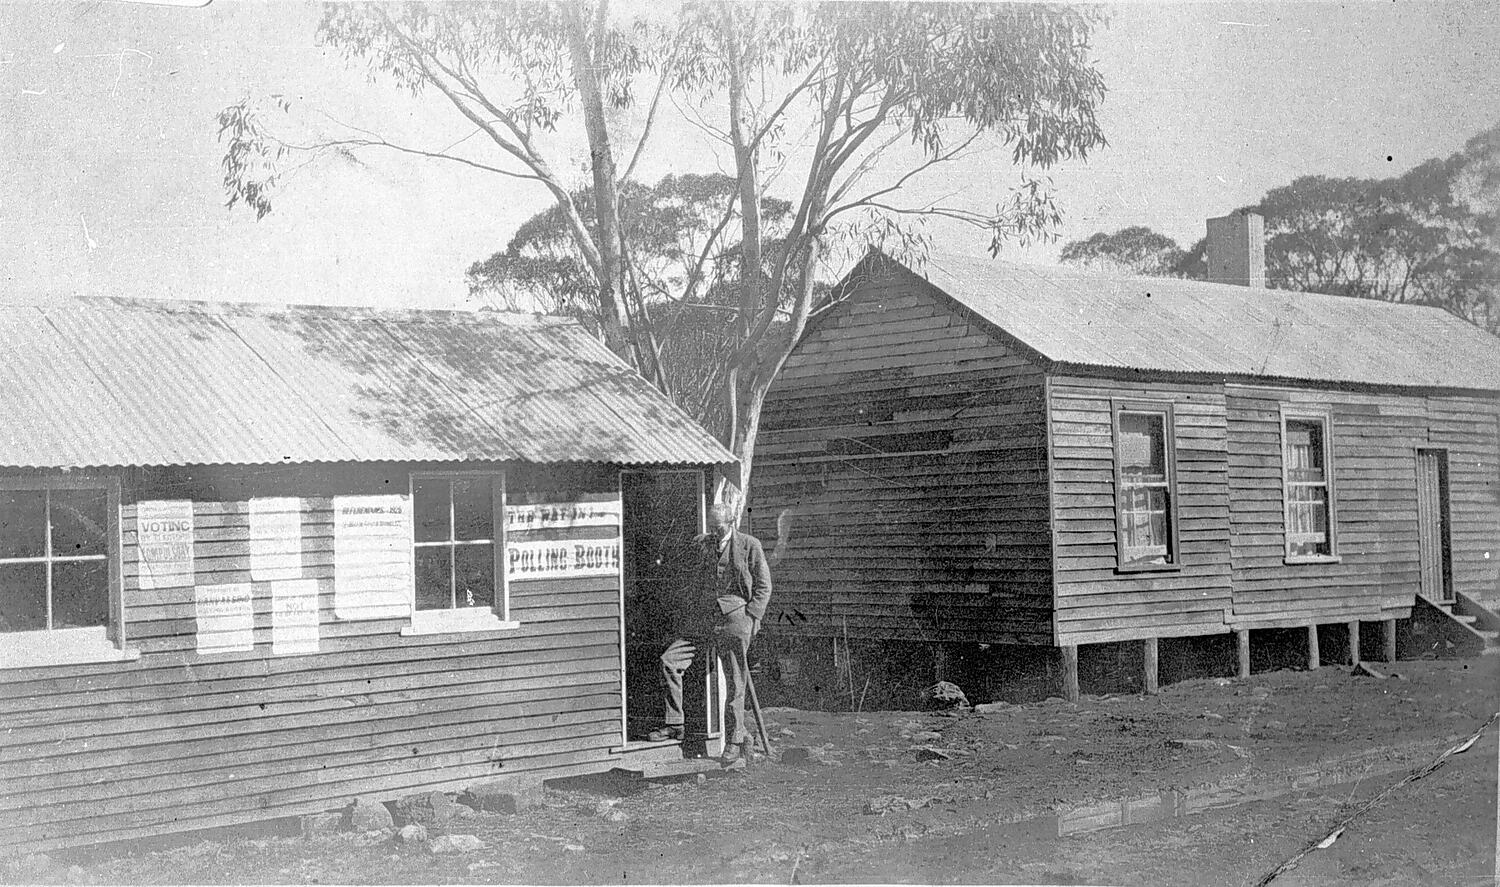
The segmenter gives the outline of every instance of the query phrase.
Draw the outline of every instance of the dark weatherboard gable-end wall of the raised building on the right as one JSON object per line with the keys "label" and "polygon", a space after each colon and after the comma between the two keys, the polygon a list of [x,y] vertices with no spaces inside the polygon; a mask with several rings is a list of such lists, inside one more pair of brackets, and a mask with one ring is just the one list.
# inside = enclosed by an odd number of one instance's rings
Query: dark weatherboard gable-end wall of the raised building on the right
{"label": "dark weatherboard gable-end wall of the raised building on the right", "polygon": [[1041,369],[924,281],[866,281],[807,335],[753,465],[771,632],[1052,642]]}

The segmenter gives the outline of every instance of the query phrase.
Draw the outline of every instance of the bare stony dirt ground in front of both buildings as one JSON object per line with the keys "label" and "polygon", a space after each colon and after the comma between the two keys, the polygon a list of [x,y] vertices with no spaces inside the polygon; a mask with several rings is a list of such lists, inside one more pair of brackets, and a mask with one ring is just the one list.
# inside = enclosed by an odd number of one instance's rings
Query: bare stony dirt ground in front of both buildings
{"label": "bare stony dirt ground in front of both buildings", "polygon": [[[57,854],[12,864],[6,879],[1254,884],[1500,710],[1500,657],[1389,671],[1400,677],[1324,666],[984,713],[774,708],[776,750],[807,749],[808,761],[702,780],[572,780],[520,813],[447,828],[483,849],[230,837]],[[1494,884],[1497,732],[1275,882]],[[1059,837],[1119,821],[1113,810],[1185,812],[1220,797],[1214,786],[1232,786],[1228,806]]]}

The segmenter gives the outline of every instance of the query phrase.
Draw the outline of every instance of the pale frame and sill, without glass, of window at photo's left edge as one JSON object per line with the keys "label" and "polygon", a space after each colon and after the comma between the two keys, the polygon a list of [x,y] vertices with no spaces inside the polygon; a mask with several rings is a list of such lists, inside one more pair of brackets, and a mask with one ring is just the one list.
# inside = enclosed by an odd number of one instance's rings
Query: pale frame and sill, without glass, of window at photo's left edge
{"label": "pale frame and sill, without glass, of window at photo's left edge", "polygon": [[[51,492],[54,489],[93,489],[105,494],[104,560],[110,593],[110,618],[104,626],[0,633],[0,669],[136,660],[141,651],[126,645],[120,479],[112,474],[87,473],[0,477],[0,491]],[[45,563],[48,567],[51,566],[50,555]]]}

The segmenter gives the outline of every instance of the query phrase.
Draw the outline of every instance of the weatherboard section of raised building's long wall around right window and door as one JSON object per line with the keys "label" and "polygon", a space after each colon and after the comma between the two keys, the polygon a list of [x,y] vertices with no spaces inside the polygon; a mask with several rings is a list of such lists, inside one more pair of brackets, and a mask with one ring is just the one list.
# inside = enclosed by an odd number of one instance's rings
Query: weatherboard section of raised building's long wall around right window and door
{"label": "weatherboard section of raised building's long wall around right window and door", "polygon": [[[1226,392],[1238,626],[1408,617],[1419,587],[1418,447],[1449,450],[1454,587],[1492,596],[1500,558],[1494,399],[1254,384]],[[1332,420],[1340,563],[1284,563],[1282,405],[1328,410]]]}

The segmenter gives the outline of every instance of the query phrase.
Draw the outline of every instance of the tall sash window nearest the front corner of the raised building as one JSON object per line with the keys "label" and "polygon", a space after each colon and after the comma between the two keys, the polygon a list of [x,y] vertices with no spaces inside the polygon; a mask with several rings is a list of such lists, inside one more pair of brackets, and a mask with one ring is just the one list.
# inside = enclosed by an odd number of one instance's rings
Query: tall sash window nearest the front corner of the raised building
{"label": "tall sash window nearest the front corner of the raised building", "polygon": [[1114,536],[1120,570],[1178,569],[1170,404],[1114,404]]}

